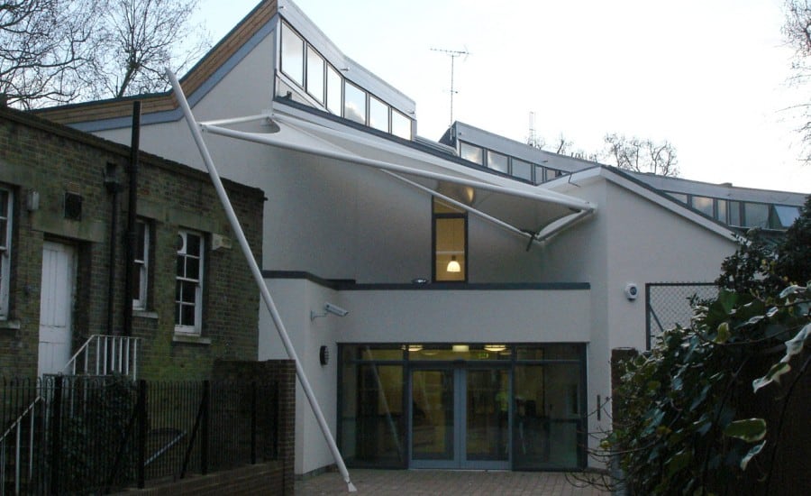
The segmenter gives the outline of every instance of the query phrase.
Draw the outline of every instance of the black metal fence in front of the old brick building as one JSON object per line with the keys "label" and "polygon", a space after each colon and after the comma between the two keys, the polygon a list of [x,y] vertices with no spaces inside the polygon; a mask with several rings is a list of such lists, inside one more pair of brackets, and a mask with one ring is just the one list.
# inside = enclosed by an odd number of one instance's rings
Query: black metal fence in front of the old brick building
{"label": "black metal fence in front of the old brick building", "polygon": [[278,394],[277,382],[0,380],[0,494],[104,493],[276,459]]}

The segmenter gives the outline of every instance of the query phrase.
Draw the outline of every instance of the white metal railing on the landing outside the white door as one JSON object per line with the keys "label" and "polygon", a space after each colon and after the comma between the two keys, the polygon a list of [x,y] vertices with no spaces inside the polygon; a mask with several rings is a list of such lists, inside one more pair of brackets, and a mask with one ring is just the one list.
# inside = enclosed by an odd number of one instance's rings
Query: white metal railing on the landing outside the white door
{"label": "white metal railing on the landing outside the white door", "polygon": [[138,345],[140,337],[126,335],[91,335],[70,357],[62,373],[76,375],[119,374],[132,381],[138,378]]}

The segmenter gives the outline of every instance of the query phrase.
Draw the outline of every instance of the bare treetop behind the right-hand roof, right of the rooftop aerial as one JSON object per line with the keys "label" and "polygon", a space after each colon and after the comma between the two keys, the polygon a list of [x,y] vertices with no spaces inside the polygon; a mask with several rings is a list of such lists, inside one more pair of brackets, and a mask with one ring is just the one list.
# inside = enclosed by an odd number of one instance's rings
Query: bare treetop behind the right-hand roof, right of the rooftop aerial
{"label": "bare treetop behind the right-hand roof, right of the rooftop aerial", "polygon": [[653,142],[623,134],[606,134],[604,156],[619,169],[650,172],[660,176],[679,176],[676,148],[670,142]]}

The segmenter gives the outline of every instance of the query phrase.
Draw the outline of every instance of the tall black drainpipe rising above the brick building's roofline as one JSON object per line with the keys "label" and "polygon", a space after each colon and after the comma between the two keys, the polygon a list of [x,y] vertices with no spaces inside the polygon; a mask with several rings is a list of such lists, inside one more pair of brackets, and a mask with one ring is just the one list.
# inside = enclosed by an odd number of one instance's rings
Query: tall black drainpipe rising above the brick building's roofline
{"label": "tall black drainpipe rising above the brick building's roofline", "polygon": [[132,102],[132,140],[130,142],[130,192],[127,212],[127,257],[124,271],[124,335],[132,335],[132,271],[135,265],[135,243],[138,243],[138,149],[141,141],[141,101]]}

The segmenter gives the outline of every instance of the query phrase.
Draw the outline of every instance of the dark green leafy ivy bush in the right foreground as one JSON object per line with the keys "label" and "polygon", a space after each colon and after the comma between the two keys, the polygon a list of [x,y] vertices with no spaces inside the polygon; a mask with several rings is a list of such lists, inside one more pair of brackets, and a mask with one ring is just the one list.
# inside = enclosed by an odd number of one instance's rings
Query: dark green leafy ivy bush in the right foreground
{"label": "dark green leafy ivy bush in the right foreground", "polygon": [[774,458],[762,453],[774,449],[770,429],[782,422],[751,417],[747,398],[784,380],[787,401],[794,383],[808,380],[809,237],[811,199],[779,246],[755,240],[724,262],[718,297],[693,302],[688,328],[624,363],[602,447],[632,494],[722,494],[747,471],[768,488]]}

